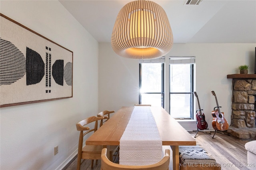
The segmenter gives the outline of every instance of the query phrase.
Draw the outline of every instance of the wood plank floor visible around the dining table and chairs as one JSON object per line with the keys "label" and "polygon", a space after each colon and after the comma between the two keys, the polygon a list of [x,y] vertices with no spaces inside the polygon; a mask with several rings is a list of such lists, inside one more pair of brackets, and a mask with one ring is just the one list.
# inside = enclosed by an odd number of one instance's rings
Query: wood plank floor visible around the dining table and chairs
{"label": "wood plank floor visible around the dining table and chairs", "polygon": [[[189,132],[192,137],[196,135],[196,132]],[[248,141],[242,141],[234,139],[228,135],[216,133],[214,139],[212,139],[214,133],[208,135],[206,133],[198,132],[196,135],[196,144],[202,145],[212,156],[216,159],[216,162],[221,165],[222,170],[248,170],[247,164],[247,151],[244,148],[244,144]],[[74,160],[70,166],[64,170],[76,170],[77,159]],[[170,170],[171,170],[170,166]],[[98,164],[95,164],[91,169],[91,161],[84,160],[80,170],[100,170],[100,160]]]}

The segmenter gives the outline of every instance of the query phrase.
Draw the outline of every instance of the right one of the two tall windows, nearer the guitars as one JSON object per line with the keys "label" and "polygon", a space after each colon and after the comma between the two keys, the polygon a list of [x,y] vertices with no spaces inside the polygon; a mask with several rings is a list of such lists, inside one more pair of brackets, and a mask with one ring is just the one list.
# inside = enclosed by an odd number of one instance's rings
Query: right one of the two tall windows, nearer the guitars
{"label": "right one of the two tall windows, nearer the guitars", "polygon": [[170,115],[193,119],[194,57],[170,57]]}

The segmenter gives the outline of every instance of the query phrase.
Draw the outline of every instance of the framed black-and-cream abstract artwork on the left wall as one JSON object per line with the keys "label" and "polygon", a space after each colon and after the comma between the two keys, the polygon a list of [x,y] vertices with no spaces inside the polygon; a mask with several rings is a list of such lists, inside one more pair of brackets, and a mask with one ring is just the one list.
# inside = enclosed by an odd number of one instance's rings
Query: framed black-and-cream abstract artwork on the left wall
{"label": "framed black-and-cream abstract artwork on the left wall", "polygon": [[0,14],[0,107],[73,97],[73,52]]}

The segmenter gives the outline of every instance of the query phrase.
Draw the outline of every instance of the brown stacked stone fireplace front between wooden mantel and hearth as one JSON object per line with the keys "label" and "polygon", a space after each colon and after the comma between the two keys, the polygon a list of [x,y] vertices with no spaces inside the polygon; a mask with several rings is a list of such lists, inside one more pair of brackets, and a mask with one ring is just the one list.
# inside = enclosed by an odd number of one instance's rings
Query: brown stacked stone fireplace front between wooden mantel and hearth
{"label": "brown stacked stone fireplace front between wooden mantel and hearth", "polygon": [[255,127],[256,79],[233,79],[231,126]]}

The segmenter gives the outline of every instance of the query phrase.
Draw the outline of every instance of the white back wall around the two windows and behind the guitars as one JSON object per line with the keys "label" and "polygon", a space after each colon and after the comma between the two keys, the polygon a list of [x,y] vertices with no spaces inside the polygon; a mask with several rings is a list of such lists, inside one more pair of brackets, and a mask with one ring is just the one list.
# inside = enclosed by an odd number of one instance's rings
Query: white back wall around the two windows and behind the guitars
{"label": "white back wall around the two windows and behind the guitars", "polygon": [[[227,74],[239,73],[236,68],[241,64],[249,64],[249,74],[254,74],[255,47],[255,43],[174,44],[166,55],[196,57],[195,90],[210,129],[212,129],[211,112],[216,106],[211,91],[216,93],[219,106],[222,106],[220,110],[224,112],[230,123],[232,79],[227,79]],[[168,90],[168,87],[166,89]],[[168,93],[166,101],[168,102]],[[136,103],[138,103],[138,61],[119,57],[112,50],[110,43],[100,43],[99,110],[117,111],[122,106],[133,106]],[[165,106],[168,111],[169,105]],[[198,109],[197,103],[196,108]],[[187,130],[196,130],[194,121],[180,121],[180,124]]]}

